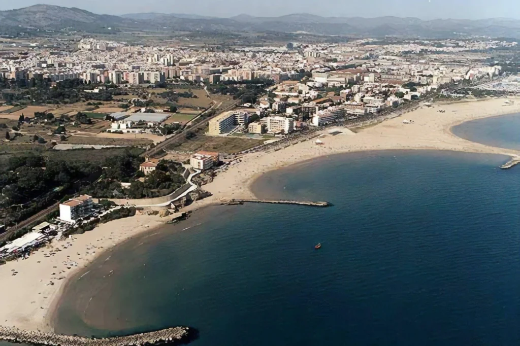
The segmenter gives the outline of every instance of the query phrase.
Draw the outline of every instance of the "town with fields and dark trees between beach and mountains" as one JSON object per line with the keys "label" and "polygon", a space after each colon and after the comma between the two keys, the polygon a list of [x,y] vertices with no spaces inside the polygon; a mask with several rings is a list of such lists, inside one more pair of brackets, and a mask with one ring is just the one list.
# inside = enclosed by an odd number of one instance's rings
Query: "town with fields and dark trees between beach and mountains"
{"label": "town with fields and dark trees between beach and mountains", "polygon": [[185,217],[243,155],[326,127],[520,88],[512,39],[342,41],[0,38],[0,261],[136,211]]}

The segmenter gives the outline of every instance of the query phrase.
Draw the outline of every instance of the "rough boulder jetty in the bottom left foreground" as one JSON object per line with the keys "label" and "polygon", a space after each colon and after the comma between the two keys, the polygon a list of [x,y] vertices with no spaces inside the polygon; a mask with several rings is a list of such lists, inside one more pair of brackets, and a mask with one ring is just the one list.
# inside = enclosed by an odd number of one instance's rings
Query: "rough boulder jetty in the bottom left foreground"
{"label": "rough boulder jetty in the bottom left foreground", "polygon": [[20,330],[10,327],[0,327],[0,340],[2,341],[49,346],[178,345],[182,343],[188,343],[196,337],[197,330],[188,327],[175,327],[129,336],[101,339],[61,335],[43,331]]}

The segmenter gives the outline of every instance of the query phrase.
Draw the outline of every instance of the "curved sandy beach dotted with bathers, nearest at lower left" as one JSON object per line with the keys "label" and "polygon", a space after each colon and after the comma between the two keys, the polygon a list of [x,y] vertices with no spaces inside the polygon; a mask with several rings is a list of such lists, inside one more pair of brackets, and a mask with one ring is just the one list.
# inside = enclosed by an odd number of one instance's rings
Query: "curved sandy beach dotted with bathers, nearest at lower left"
{"label": "curved sandy beach dotted with bathers, nearest at lower left", "polygon": [[114,220],[90,232],[54,241],[28,259],[2,265],[0,325],[51,331],[51,307],[59,301],[69,277],[103,251],[111,251],[126,239],[160,225],[163,221],[158,216],[136,215]]}

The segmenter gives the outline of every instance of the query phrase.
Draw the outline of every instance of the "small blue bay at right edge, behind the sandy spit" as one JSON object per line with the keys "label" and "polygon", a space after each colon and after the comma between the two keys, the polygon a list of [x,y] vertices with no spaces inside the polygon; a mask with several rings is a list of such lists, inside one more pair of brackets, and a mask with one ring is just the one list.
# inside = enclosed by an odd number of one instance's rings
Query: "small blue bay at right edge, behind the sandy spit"
{"label": "small blue bay at right edge, behind the sandy spit", "polygon": [[520,150],[520,113],[473,120],[454,126],[451,131],[473,142]]}

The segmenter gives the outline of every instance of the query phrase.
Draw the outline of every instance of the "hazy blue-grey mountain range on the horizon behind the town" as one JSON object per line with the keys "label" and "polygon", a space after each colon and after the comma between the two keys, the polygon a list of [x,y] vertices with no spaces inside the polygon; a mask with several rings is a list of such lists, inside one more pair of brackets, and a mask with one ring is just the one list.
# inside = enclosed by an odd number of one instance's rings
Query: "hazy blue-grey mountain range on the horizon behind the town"
{"label": "hazy blue-grey mountain range on the horizon behind the town", "polygon": [[116,30],[162,30],[193,32],[284,32],[318,35],[355,35],[370,37],[446,38],[463,35],[519,37],[520,20],[491,18],[482,20],[399,17],[321,17],[307,13],[280,17],[254,17],[246,14],[231,18],[187,14],[142,13],[124,16],[97,15],[79,8],[51,5],[0,11],[0,32],[10,28],[76,30],[97,33]]}

